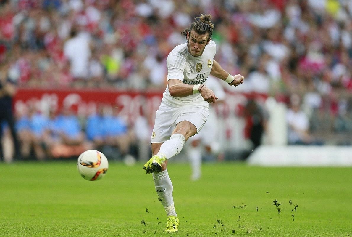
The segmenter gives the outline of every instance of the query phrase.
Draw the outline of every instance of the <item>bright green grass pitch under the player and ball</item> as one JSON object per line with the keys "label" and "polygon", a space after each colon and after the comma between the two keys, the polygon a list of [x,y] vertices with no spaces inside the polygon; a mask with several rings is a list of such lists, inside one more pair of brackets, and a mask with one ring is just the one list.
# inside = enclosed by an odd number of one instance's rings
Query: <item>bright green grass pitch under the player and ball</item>
{"label": "bright green grass pitch under the player and ball", "polygon": [[171,160],[170,234],[143,164],[109,165],[92,182],[74,160],[0,164],[0,236],[352,236],[352,168],[208,163],[190,182],[189,165]]}

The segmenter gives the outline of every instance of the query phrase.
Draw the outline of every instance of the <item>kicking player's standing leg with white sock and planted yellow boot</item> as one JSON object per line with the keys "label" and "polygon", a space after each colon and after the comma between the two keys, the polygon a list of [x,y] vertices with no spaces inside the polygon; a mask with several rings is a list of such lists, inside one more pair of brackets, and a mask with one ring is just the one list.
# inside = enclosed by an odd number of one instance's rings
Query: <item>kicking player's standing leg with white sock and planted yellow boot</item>
{"label": "kicking player's standing leg with white sock and planted yellow boot", "polygon": [[[156,155],[162,143],[152,143],[152,154]],[[167,223],[166,223],[166,232],[175,232],[178,231],[178,217],[175,211],[174,206],[174,198],[172,197],[172,191],[174,190],[172,186],[172,182],[170,180],[168,170],[166,169],[168,160],[165,160],[162,163],[162,171],[161,172],[153,172],[153,180],[155,185],[156,193],[158,194],[158,200],[164,206],[166,215],[167,215]]]}

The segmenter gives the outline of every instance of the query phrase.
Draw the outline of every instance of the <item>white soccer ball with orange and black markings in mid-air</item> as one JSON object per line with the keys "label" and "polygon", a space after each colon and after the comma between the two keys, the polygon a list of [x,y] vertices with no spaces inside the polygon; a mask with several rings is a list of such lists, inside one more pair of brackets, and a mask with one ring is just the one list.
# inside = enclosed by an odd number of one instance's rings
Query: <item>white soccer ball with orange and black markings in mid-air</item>
{"label": "white soccer ball with orange and black markings in mid-air", "polygon": [[105,176],[108,168],[108,159],[100,151],[85,151],[80,154],[77,160],[78,172],[86,180],[100,180]]}

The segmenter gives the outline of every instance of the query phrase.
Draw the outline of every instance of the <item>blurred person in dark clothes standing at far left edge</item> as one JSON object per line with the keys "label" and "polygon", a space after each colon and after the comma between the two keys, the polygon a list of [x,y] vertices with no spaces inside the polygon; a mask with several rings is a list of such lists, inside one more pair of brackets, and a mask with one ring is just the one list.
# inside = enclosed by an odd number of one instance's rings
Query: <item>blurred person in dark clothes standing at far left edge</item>
{"label": "blurred person in dark clothes standing at far left edge", "polygon": [[13,145],[14,145],[14,156],[16,159],[21,159],[20,145],[18,140],[17,131],[15,129],[15,120],[12,109],[12,97],[16,93],[16,81],[11,80],[7,74],[7,65],[0,67],[0,159],[3,159],[4,153],[2,150],[2,136],[3,124],[6,122],[10,128]]}

